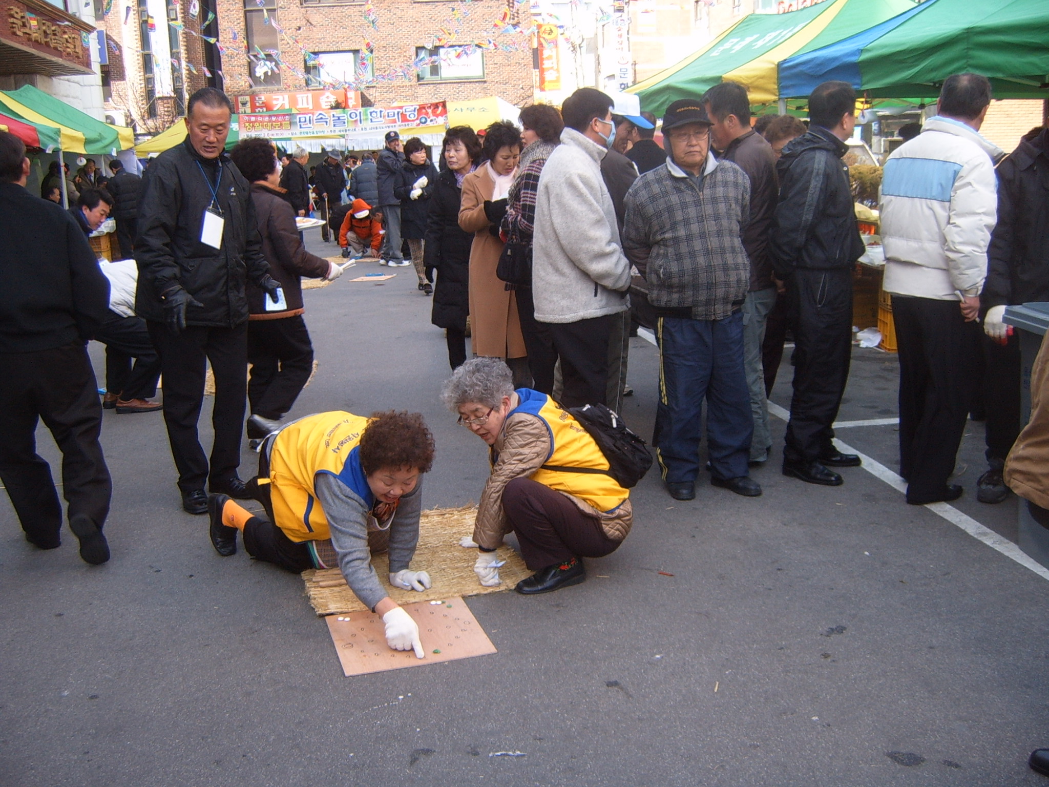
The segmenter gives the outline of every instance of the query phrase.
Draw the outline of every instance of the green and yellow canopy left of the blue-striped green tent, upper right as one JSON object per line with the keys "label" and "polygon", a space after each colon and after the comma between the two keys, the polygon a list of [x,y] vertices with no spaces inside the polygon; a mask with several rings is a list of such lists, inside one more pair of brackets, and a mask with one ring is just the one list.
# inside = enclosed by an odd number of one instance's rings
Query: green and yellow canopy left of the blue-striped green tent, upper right
{"label": "green and yellow canopy left of the blue-striped green tent, upper right", "polygon": [[915,7],[912,0],[827,0],[787,14],[750,14],[684,60],[627,88],[657,116],[677,99],[698,98],[719,82],[738,82],[751,104],[775,104],[777,65],[880,24]]}

